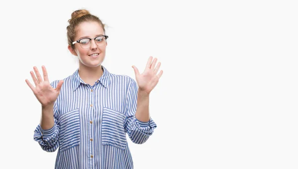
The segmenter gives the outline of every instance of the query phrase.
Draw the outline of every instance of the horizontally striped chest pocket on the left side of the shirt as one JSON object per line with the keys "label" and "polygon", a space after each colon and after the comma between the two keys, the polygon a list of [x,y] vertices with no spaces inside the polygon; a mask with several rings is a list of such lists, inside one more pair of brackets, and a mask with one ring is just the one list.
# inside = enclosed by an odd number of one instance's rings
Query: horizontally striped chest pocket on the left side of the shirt
{"label": "horizontally striped chest pocket on the left side of the shirt", "polygon": [[59,145],[60,152],[70,149],[80,142],[80,123],[79,110],[74,109],[64,113],[59,118],[60,121],[60,136]]}

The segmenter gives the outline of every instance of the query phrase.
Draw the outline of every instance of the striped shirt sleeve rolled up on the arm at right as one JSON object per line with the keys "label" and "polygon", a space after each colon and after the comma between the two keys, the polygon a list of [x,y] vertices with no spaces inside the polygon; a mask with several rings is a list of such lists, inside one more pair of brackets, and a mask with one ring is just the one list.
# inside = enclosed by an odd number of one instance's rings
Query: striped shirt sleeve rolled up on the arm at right
{"label": "striped shirt sleeve rolled up on the arm at right", "polygon": [[126,98],[126,122],[125,131],[128,133],[129,138],[137,144],[145,143],[149,136],[152,135],[156,124],[151,119],[149,122],[141,122],[136,119],[137,111],[137,97],[138,86],[137,83],[132,80],[127,98]]}

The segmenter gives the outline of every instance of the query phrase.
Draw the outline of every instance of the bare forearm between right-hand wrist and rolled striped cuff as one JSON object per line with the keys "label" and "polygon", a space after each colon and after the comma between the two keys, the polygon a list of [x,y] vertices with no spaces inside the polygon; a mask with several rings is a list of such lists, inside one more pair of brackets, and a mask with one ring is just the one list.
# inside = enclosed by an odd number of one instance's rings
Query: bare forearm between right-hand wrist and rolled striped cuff
{"label": "bare forearm between right-hand wrist and rolled striped cuff", "polygon": [[141,122],[148,122],[149,115],[149,94],[145,91],[138,91],[136,119]]}

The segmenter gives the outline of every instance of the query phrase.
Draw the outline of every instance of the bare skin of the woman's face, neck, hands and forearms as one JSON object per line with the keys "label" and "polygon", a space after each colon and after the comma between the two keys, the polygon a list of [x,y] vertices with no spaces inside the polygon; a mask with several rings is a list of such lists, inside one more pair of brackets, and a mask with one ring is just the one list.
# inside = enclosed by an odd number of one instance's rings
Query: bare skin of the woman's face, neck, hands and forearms
{"label": "bare skin of the woman's face, neck, hands and forearms", "polygon": [[[78,25],[75,40],[79,40],[82,37],[94,38],[98,35],[104,35],[104,31],[97,22],[83,22]],[[81,48],[78,43],[74,44],[74,49],[70,45],[68,46],[70,52],[79,59],[78,73],[85,83],[93,85],[95,81],[102,76],[103,71],[101,69],[101,64],[105,58],[106,46],[107,43],[103,46],[97,46],[94,40],[91,41],[91,46],[88,49]],[[92,58],[89,55],[93,53],[99,53],[99,55],[96,58]],[[140,73],[136,66],[132,66],[139,86],[136,118],[141,122],[148,122],[150,119],[149,94],[156,86],[163,73],[161,70],[157,74],[160,62],[158,62],[157,65],[156,62],[157,58],[153,59],[153,57],[150,56],[143,73]],[[60,93],[64,81],[60,81],[57,88],[53,88],[48,79],[48,73],[45,66],[42,66],[43,77],[36,66],[33,67],[33,70],[35,74],[33,71],[30,71],[30,74],[35,86],[31,84],[28,79],[26,79],[25,82],[31,88],[37,100],[41,103],[41,127],[43,129],[50,129],[54,126],[54,102]]]}

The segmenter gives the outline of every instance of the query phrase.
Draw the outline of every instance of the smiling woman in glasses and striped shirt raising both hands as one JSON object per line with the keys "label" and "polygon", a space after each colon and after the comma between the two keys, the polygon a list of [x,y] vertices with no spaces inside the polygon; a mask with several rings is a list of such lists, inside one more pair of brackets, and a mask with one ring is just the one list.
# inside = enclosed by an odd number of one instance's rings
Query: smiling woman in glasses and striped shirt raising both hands
{"label": "smiling woman in glasses and striped shirt raising both hands", "polygon": [[[28,80],[42,105],[42,118],[34,140],[43,150],[58,149],[56,169],[132,169],[126,140],[146,142],[156,127],[149,116],[149,93],[158,83],[160,62],[149,57],[137,83],[128,76],[114,75],[102,66],[108,36],[104,24],[87,10],[72,13],[67,27],[68,49],[78,57],[79,67],[62,81],[48,80],[42,66]],[[156,67],[155,67],[156,65]]]}

